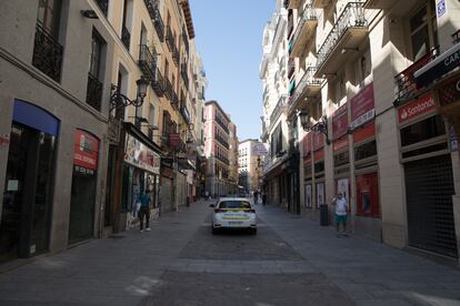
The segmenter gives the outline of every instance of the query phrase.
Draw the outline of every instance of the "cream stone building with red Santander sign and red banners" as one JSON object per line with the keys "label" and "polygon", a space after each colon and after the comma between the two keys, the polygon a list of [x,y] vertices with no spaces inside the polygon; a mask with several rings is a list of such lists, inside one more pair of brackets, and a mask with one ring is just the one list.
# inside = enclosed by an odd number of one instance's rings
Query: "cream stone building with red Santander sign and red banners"
{"label": "cream stone building with red Santander sign and red banners", "polygon": [[354,233],[458,258],[458,1],[283,4],[301,212],[341,191]]}

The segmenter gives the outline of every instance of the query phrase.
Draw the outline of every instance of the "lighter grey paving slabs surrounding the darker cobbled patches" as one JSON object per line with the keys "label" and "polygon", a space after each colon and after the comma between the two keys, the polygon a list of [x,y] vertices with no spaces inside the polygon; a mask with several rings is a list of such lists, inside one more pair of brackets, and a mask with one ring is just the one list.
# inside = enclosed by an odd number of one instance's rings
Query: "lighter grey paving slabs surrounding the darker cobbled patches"
{"label": "lighter grey paving slabs surrounding the darker cobbled patches", "polygon": [[[234,284],[238,275],[254,279],[279,275],[298,282],[320,277],[356,305],[460,305],[459,268],[358,236],[337,238],[333,228],[278,207],[257,206],[262,221],[259,234],[263,237],[264,228],[273,231],[281,238],[279,243],[293,248],[300,259],[181,256],[192,247],[197,233],[208,226],[209,203],[198,202],[163,215],[151,232],[130,231],[94,239],[0,274],[0,305],[139,305],[158,292],[164,279],[176,279],[174,273],[184,271],[211,278],[217,273],[228,274]],[[187,300],[178,305],[187,305]]]}

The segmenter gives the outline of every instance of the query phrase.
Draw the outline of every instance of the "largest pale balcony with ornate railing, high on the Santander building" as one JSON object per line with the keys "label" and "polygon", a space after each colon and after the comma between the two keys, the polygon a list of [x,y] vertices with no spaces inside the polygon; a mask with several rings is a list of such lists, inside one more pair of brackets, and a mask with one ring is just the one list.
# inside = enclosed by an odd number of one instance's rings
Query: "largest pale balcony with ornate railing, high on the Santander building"
{"label": "largest pale balcony with ornate railing, high on the Santander building", "polygon": [[336,73],[350,53],[347,50],[358,50],[368,34],[364,12],[360,2],[350,2],[343,9],[318,51],[317,76]]}

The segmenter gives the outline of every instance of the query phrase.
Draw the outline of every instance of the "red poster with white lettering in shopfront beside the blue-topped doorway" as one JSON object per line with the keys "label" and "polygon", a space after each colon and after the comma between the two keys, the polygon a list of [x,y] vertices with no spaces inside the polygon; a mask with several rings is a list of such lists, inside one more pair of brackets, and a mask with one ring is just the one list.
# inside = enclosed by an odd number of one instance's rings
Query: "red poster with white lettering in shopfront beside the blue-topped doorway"
{"label": "red poster with white lettering in shopfront beside the blue-topped doorway", "polygon": [[76,131],[73,142],[73,164],[79,170],[89,170],[92,174],[98,169],[99,140],[82,130]]}

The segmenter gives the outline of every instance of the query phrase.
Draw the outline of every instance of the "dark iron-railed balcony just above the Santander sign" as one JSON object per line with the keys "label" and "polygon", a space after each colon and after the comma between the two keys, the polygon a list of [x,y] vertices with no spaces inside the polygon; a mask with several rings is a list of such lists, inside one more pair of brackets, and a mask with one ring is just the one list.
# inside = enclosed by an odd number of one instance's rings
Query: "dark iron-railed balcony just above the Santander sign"
{"label": "dark iron-railed balcony just above the Santander sign", "polygon": [[423,89],[417,89],[416,78],[413,73],[423,65],[431,62],[439,54],[438,48],[431,49],[424,57],[416,61],[413,64],[401,71],[394,76],[398,85],[397,103],[403,103],[404,101],[416,98]]}

